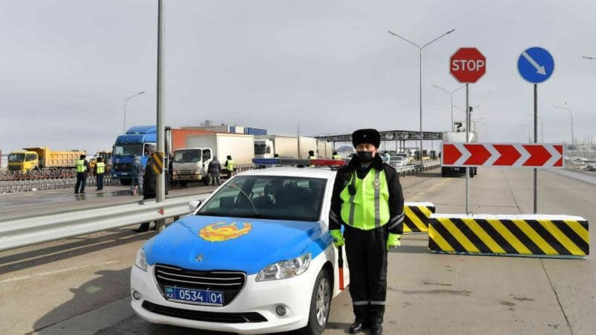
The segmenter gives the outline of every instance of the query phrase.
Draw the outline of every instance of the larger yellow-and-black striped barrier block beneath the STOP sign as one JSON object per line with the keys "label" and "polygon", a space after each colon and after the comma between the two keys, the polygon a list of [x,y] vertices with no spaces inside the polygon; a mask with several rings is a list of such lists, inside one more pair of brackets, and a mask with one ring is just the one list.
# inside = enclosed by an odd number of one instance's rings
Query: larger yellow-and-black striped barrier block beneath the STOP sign
{"label": "larger yellow-and-black striped barrier block beneath the STOP sign", "polygon": [[430,217],[429,250],[470,255],[585,258],[588,221],[567,215],[457,215]]}

